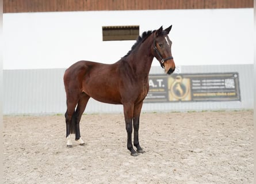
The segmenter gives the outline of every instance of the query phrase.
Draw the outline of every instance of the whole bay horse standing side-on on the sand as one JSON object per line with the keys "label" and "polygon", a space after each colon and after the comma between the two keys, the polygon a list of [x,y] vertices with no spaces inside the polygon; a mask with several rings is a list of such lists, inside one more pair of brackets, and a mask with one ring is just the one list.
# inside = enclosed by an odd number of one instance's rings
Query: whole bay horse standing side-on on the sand
{"label": "whole bay horse standing side-on on the sand", "polygon": [[[171,25],[172,26],[172,25]],[[72,147],[70,134],[85,145],[80,135],[79,122],[89,98],[108,104],[122,104],[127,148],[132,156],[144,153],[139,144],[139,120],[143,100],[149,89],[148,74],[152,60],[158,59],[167,74],[175,70],[171,55],[171,40],[168,34],[171,26],[144,32],[139,36],[131,51],[113,64],[79,61],[72,64],[64,73],[64,86],[67,97],[66,139],[67,147]],[[132,127],[134,129],[132,146]]]}

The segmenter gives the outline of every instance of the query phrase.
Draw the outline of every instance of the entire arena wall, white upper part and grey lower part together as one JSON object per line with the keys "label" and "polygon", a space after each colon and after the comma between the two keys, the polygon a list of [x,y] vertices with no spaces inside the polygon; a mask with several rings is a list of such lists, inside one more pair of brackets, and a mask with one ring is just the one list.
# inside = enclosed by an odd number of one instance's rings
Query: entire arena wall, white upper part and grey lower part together
{"label": "entire arena wall, white upper part and grey lower part together", "polygon": [[[102,26],[113,25],[139,25],[142,34],[173,24],[179,74],[238,72],[239,100],[147,102],[143,112],[253,109],[253,9],[6,12],[3,114],[64,114],[64,68],[81,59],[116,62],[135,43],[102,41]],[[151,74],[163,75],[155,59]],[[86,113],[102,112],[123,107],[91,99]]]}

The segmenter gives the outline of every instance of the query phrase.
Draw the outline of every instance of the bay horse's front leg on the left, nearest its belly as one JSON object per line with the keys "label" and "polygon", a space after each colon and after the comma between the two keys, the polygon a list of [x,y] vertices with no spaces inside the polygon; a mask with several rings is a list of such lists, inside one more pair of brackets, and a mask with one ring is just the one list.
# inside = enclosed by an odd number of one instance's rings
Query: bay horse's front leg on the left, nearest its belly
{"label": "bay horse's front leg on the left, nearest its belly", "polygon": [[137,156],[137,152],[132,147],[132,120],[133,120],[133,105],[124,104],[124,119],[125,128],[127,131],[127,149],[131,151],[132,156]]}

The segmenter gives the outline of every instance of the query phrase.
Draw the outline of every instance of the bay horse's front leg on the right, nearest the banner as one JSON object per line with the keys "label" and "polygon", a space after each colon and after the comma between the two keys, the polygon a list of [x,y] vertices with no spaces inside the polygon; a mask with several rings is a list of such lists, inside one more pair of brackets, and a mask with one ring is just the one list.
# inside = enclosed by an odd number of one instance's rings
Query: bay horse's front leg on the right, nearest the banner
{"label": "bay horse's front leg on the right, nearest the banner", "polygon": [[140,125],[140,112],[142,110],[142,103],[136,105],[133,111],[133,129],[134,129],[134,137],[133,137],[133,145],[137,148],[137,152],[143,154],[145,151],[140,147],[139,143],[139,125]]}

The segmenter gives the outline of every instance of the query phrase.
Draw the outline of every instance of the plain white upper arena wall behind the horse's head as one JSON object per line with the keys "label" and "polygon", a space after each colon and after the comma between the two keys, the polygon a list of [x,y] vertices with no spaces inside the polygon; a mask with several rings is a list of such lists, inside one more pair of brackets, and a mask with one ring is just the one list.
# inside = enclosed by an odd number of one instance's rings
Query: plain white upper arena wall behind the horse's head
{"label": "plain white upper arena wall behind the horse's head", "polygon": [[135,40],[103,41],[102,26],[130,25],[139,26],[140,35],[173,25],[169,37],[178,65],[253,64],[252,22],[250,8],[6,13],[3,70],[116,62]]}

